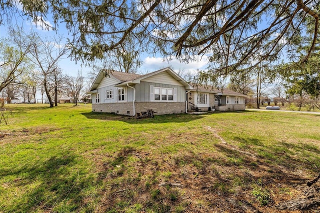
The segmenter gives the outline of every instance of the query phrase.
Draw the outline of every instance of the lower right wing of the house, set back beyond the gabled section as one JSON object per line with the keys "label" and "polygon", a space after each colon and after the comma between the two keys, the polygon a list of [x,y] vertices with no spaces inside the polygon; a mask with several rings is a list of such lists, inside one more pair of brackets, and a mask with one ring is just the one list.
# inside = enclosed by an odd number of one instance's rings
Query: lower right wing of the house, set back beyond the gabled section
{"label": "lower right wing of the house, set back beyond the gabled section", "polygon": [[245,96],[226,88],[219,90],[212,86],[193,85],[193,89],[187,93],[187,108],[202,111],[207,111],[209,107],[217,111],[244,110]]}

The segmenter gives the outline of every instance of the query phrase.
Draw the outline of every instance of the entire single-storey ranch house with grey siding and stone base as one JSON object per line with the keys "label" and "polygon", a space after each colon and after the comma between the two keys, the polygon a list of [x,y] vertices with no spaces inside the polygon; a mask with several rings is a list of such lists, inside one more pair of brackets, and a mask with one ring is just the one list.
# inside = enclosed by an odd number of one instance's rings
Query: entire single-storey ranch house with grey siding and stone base
{"label": "entire single-storey ranch house with grey siding and stone base", "polygon": [[188,109],[243,110],[243,94],[230,90],[193,87],[171,68],[140,75],[101,69],[87,94],[92,111],[133,115],[146,109],[156,114]]}

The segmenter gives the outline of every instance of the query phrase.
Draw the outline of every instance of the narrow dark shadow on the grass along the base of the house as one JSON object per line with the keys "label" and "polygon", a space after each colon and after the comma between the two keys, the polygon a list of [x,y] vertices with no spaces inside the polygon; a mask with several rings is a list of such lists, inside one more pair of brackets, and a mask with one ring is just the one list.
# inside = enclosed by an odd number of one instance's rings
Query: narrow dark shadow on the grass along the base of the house
{"label": "narrow dark shadow on the grass along the base of the house", "polygon": [[189,122],[192,120],[200,119],[203,116],[199,114],[164,114],[155,115],[153,118],[146,117],[141,119],[135,119],[132,116],[119,115],[114,113],[106,112],[82,112],[88,119],[99,119],[99,120],[118,120],[124,121],[130,124],[141,124],[141,123],[168,123],[168,122]]}

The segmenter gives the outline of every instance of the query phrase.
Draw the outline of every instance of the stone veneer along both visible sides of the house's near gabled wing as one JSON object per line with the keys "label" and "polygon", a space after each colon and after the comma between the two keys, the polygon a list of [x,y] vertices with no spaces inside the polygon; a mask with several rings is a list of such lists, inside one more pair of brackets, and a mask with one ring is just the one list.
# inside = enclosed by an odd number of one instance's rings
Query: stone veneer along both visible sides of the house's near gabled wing
{"label": "stone veneer along both visible sides of the house's near gabled wing", "polygon": [[[135,113],[152,109],[157,114],[184,113],[185,102],[135,102]],[[113,112],[117,114],[133,115],[133,103],[97,103],[92,104],[92,111]],[[129,111],[129,113],[127,113]]]}

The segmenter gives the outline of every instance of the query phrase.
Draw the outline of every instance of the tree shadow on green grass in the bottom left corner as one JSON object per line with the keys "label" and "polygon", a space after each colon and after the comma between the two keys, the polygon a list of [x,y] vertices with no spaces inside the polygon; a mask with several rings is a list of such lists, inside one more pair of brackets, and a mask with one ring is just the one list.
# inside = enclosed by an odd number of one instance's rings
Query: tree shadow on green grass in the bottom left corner
{"label": "tree shadow on green grass in the bottom left corner", "polygon": [[9,182],[18,188],[11,205],[0,206],[3,212],[55,211],[70,212],[79,209],[83,197],[80,192],[90,184],[83,172],[72,168],[77,162],[75,155],[53,156],[37,164],[13,169],[0,168],[0,178],[16,176]]}

